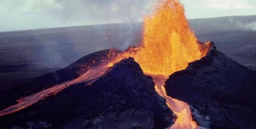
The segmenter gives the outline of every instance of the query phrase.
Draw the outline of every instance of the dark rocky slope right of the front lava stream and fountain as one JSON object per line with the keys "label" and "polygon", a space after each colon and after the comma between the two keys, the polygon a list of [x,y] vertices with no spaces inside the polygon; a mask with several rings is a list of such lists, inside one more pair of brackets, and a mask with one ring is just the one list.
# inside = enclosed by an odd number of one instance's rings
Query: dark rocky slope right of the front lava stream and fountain
{"label": "dark rocky slope right of the front lava stream and fountain", "polygon": [[256,72],[216,50],[169,76],[167,94],[191,105],[200,126],[256,128]]}

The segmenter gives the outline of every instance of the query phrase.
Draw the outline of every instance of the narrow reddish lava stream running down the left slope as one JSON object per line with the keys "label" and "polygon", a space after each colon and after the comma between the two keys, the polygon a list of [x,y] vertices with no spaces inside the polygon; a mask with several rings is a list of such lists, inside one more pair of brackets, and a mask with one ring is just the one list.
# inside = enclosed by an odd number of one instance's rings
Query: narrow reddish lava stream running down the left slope
{"label": "narrow reddish lava stream running down the left slope", "polygon": [[63,89],[65,89],[71,85],[88,82],[88,81],[94,81],[98,77],[105,74],[109,69],[110,69],[110,67],[106,67],[106,63],[103,63],[102,65],[100,65],[98,67],[89,69],[86,72],[86,74],[83,74],[79,78],[64,82],[62,84],[53,85],[51,88],[45,89],[39,93],[35,93],[30,96],[20,98],[19,100],[17,100],[17,102],[18,102],[17,104],[10,106],[4,110],[1,110],[0,116],[6,115],[6,114],[12,114],[21,109],[27,108],[27,107],[39,102],[40,100],[43,100],[51,95],[57,94],[58,92],[62,91]]}

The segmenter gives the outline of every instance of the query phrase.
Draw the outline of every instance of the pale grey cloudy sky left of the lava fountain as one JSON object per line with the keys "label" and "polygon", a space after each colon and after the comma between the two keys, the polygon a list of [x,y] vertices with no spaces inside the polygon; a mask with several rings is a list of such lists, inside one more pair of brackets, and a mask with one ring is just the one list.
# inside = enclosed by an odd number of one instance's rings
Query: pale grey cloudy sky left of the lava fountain
{"label": "pale grey cloudy sky left of the lava fountain", "polygon": [[0,0],[0,31],[140,22],[149,1]]}

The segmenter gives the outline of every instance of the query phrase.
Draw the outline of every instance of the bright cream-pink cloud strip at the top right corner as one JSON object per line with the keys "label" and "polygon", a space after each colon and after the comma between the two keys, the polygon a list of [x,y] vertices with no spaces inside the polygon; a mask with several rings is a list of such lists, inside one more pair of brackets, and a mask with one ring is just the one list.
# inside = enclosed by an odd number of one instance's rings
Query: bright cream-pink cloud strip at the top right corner
{"label": "bright cream-pink cloud strip at the top right corner", "polygon": [[205,9],[254,9],[255,5],[252,5],[248,0],[204,0],[203,6],[197,6],[195,8]]}

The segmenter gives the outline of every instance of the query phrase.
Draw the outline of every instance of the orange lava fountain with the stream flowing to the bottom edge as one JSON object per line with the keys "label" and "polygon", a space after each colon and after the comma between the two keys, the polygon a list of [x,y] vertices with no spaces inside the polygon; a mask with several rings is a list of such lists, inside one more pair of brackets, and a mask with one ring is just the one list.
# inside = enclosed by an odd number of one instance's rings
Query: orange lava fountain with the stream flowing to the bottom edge
{"label": "orange lava fountain with the stream flowing to the bottom edge", "polygon": [[154,11],[144,20],[143,46],[133,57],[146,74],[152,75],[157,93],[166,99],[169,108],[178,116],[170,129],[199,128],[192,120],[189,105],[167,96],[163,85],[170,74],[204,57],[209,47],[198,43],[178,0],[161,2]]}

